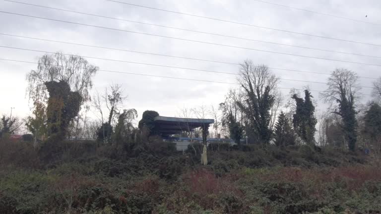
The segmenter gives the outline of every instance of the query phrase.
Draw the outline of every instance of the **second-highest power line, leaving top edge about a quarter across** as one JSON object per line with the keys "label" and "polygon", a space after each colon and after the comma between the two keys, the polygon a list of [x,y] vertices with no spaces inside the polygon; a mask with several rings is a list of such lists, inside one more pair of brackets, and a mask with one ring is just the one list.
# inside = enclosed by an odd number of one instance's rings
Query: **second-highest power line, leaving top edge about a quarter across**
{"label": "second-highest power line, leaving top edge about a quarter across", "polygon": [[229,23],[234,23],[234,24],[239,24],[239,25],[246,25],[246,26],[263,28],[263,29],[268,29],[268,30],[274,30],[274,31],[281,31],[281,32],[287,32],[287,33],[299,34],[299,35],[304,35],[304,36],[312,36],[312,37],[318,37],[318,38],[323,38],[323,39],[337,40],[337,41],[350,42],[350,43],[358,43],[358,44],[370,45],[370,46],[381,46],[381,45],[378,45],[378,44],[371,44],[371,43],[365,43],[365,42],[345,40],[345,39],[339,39],[339,38],[334,38],[334,37],[318,36],[318,35],[314,35],[314,34],[307,34],[307,33],[295,32],[295,31],[288,31],[288,30],[282,30],[282,29],[277,29],[277,28],[270,28],[270,27],[264,27],[264,26],[259,26],[259,25],[247,24],[247,23],[243,23],[243,22],[236,22],[236,21],[230,21],[230,20],[225,20],[225,19],[213,18],[213,17],[208,17],[208,16],[195,15],[195,14],[191,14],[191,13],[183,13],[183,12],[178,12],[178,11],[173,11],[173,10],[160,9],[160,8],[156,8],[156,7],[143,6],[143,5],[139,5],[139,4],[132,4],[132,3],[127,3],[127,2],[117,1],[117,0],[108,0],[108,1],[128,4],[128,5],[131,5],[131,6],[144,7],[144,8],[148,8],[148,9],[160,10],[160,11],[165,11],[165,12],[177,13],[177,14],[182,14],[182,15],[189,15],[189,16],[194,16],[194,17],[199,17],[199,18],[211,19],[211,20],[216,20],[216,21],[229,22]]}

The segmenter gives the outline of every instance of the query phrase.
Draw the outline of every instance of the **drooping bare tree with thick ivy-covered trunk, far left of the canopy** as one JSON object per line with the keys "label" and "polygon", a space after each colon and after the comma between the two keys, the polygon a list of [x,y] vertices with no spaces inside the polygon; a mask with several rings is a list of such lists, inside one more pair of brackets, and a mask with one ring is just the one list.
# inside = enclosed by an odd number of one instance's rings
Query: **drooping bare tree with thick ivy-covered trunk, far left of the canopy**
{"label": "drooping bare tree with thick ivy-covered trunk, far left of the canopy", "polygon": [[47,103],[48,135],[64,138],[70,121],[90,100],[97,70],[81,56],[57,53],[39,58],[37,69],[27,75],[27,93],[34,104]]}

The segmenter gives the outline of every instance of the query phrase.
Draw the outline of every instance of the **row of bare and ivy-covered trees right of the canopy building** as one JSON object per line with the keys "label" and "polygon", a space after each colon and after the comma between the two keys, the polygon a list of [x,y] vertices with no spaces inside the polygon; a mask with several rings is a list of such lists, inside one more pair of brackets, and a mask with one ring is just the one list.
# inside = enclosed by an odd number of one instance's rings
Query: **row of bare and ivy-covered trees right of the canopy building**
{"label": "row of bare and ivy-covered trees right of the canopy building", "polygon": [[350,151],[362,148],[377,155],[381,152],[381,79],[374,83],[374,100],[364,106],[357,74],[336,69],[319,94],[319,99],[330,105],[327,113],[319,116],[317,98],[308,87],[304,95],[291,90],[283,105],[285,97],[277,88],[279,77],[264,65],[245,61],[238,82],[240,87],[231,89],[220,104],[222,126],[236,143],[247,138],[259,145],[306,144]]}

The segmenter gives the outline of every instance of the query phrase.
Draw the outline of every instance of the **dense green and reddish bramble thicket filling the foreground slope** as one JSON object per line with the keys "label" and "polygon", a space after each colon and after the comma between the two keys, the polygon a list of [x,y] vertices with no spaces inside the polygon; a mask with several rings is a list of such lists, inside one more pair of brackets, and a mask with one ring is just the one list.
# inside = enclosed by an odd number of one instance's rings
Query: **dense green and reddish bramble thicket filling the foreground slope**
{"label": "dense green and reddish bramble thicket filling the foreground slope", "polygon": [[0,213],[381,212],[380,167],[360,152],[211,145],[201,166],[192,146],[0,141]]}

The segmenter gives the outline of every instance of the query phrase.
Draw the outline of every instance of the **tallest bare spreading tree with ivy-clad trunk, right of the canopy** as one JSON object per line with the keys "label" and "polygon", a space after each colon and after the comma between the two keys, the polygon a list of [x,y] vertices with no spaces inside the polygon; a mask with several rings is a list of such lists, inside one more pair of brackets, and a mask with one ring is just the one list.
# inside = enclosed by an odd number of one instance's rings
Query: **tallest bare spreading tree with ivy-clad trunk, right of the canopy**
{"label": "tallest bare spreading tree with ivy-clad trunk, right of the canopy", "polygon": [[241,64],[238,82],[244,89],[246,101],[239,102],[239,106],[248,118],[247,132],[252,132],[251,138],[256,143],[267,144],[271,139],[270,110],[278,93],[278,80],[264,65],[254,66],[251,60]]}

